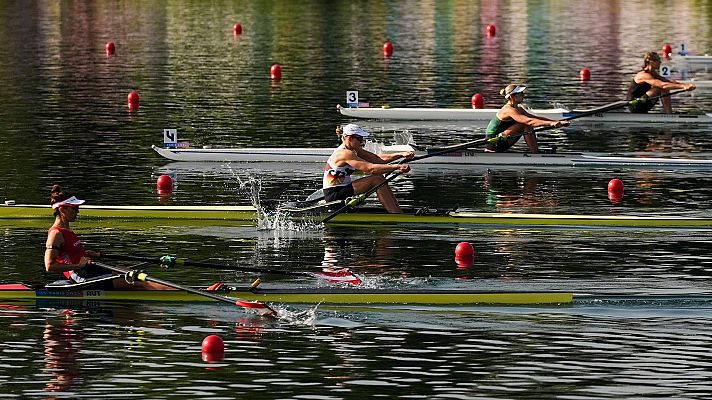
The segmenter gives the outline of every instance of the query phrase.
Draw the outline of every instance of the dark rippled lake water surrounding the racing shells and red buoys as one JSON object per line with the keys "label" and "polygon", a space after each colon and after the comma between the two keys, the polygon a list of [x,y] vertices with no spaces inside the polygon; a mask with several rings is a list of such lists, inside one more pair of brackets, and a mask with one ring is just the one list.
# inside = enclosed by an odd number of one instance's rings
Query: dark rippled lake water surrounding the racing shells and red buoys
{"label": "dark rippled lake water surrounding the racing shells and red buoys", "polygon": [[[51,2],[0,4],[0,197],[44,203],[61,183],[94,204],[264,204],[319,185],[319,166],[168,163],[164,128],[194,145],[336,145],[346,90],[373,106],[469,107],[526,84],[533,107],[621,100],[642,54],[669,42],[709,52],[708,2]],[[243,34],[232,35],[240,22]],[[645,23],[643,23],[645,22]],[[497,35],[484,27],[494,23]],[[394,43],[383,58],[386,39]],[[114,41],[116,55],[104,45]],[[282,65],[280,81],[269,68]],[[578,71],[589,68],[592,80]],[[699,79],[709,79],[702,71]],[[129,112],[136,90],[141,106]],[[712,109],[709,91],[675,108]],[[484,126],[364,121],[378,141],[423,145]],[[708,127],[572,124],[560,150],[702,155]],[[705,171],[440,170],[413,165],[406,205],[477,211],[710,216]],[[158,175],[176,178],[169,198]],[[606,185],[623,179],[612,203]],[[49,224],[48,224],[49,225]],[[707,398],[710,232],[428,227],[162,227],[76,230],[90,248],[305,271],[352,268],[369,287],[570,290],[571,306],[286,307],[265,320],[230,305],[0,305],[0,385],[16,398]],[[4,281],[50,281],[45,229],[3,228]],[[460,241],[473,265],[452,259]],[[39,250],[38,250],[39,249]],[[231,271],[153,269],[208,285]],[[317,283],[263,276],[266,285]],[[626,296],[619,297],[618,295]],[[659,297],[646,298],[655,294]],[[277,305],[277,307],[283,307]],[[208,334],[223,360],[201,358]]]}

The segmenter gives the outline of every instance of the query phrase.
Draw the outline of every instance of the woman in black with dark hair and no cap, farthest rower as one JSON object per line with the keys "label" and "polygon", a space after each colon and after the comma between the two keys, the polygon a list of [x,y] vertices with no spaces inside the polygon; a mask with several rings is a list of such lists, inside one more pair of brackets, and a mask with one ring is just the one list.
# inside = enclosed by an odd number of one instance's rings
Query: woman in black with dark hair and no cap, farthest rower
{"label": "woman in black with dark hair and no cap, farthest rower", "polygon": [[[650,100],[649,98],[667,95],[671,89],[695,90],[695,85],[680,83],[661,76],[658,72],[660,64],[660,56],[654,51],[645,53],[645,56],[643,56],[643,69],[635,74],[633,81],[628,86],[626,100],[640,100],[628,106],[630,112],[647,113],[658,102],[657,99]],[[670,97],[661,97],[660,100],[663,103],[663,111],[671,114],[672,102]]]}

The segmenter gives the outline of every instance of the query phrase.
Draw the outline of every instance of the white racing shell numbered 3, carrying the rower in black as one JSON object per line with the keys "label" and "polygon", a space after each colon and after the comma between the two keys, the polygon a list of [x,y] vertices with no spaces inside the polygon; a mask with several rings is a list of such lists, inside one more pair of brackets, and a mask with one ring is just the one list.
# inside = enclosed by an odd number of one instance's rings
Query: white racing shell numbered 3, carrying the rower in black
{"label": "white racing shell numbered 3, carrying the rower in black", "polygon": [[[388,108],[388,107],[342,107],[337,109],[346,117],[400,120],[400,121],[473,121],[488,123],[499,109],[497,108]],[[530,109],[530,113],[551,118],[571,119],[576,115],[588,113],[591,110],[567,110],[564,108]],[[580,122],[591,123],[631,123],[631,124],[712,124],[712,113],[647,113],[632,114],[628,112],[601,112],[577,118]]]}

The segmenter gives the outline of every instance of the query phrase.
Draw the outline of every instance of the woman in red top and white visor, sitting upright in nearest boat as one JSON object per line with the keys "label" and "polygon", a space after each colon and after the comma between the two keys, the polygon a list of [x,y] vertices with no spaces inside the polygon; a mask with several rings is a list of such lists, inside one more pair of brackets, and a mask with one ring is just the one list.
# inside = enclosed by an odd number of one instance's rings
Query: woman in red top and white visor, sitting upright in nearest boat
{"label": "woman in red top and white visor, sitting upright in nearest boat", "polygon": [[[92,258],[99,257],[97,251],[86,250],[69,224],[76,221],[79,206],[84,200],[79,200],[64,191],[59,185],[52,187],[50,204],[54,210],[54,224],[47,233],[45,245],[45,269],[47,272],[62,272],[67,279],[76,283],[88,282],[94,279],[112,276],[112,272],[92,264]],[[151,282],[128,283],[124,279],[101,280],[96,289],[170,289]]]}

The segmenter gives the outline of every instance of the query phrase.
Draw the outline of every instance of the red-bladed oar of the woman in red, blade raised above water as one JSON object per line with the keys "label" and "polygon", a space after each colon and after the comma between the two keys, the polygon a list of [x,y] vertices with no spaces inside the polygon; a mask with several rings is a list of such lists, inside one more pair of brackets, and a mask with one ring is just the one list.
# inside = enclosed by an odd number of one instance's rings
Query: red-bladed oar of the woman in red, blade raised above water
{"label": "red-bladed oar of the woman in red, blade raised above water", "polygon": [[231,269],[236,271],[244,272],[257,272],[263,274],[278,274],[278,275],[292,275],[292,276],[309,276],[318,279],[324,279],[332,283],[348,283],[350,285],[360,285],[363,283],[359,277],[354,275],[354,273],[348,268],[339,268],[333,270],[323,270],[319,272],[307,272],[307,271],[283,271],[278,269],[269,268],[253,268],[253,267],[241,267],[233,265],[222,265],[213,264],[204,261],[192,261],[186,258],[178,258],[174,256],[162,256],[162,257],[149,257],[149,256],[131,256],[131,255],[118,255],[118,254],[102,254],[102,257],[114,258],[121,260],[134,260],[134,261],[147,261],[147,262],[159,262],[163,268],[173,268],[176,265],[187,265],[193,267],[203,267],[203,268],[213,268],[213,269]]}

